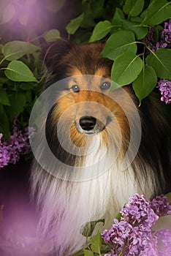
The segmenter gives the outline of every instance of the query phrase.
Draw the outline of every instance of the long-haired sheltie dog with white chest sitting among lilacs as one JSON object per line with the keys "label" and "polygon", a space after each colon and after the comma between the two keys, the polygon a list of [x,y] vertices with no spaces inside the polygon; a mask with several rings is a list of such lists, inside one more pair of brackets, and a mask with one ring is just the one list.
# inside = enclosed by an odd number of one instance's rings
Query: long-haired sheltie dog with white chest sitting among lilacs
{"label": "long-haired sheltie dog with white chest sitting among lilacs", "polygon": [[47,79],[31,188],[39,235],[58,256],[86,245],[87,222],[105,219],[100,230],[110,227],[130,196],[149,199],[171,188],[167,125],[155,93],[138,107],[131,85],[113,90],[113,61],[99,58],[103,48],[58,39],[43,53]]}

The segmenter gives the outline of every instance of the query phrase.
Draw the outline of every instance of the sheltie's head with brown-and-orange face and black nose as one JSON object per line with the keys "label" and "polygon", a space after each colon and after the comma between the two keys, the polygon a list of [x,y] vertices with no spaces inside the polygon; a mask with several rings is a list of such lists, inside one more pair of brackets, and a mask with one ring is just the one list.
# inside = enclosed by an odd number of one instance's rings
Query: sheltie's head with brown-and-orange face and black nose
{"label": "sheltie's head with brown-and-orange face and black nose", "polygon": [[105,133],[107,127],[115,129],[116,135],[120,129],[125,132],[124,138],[129,137],[124,112],[134,113],[134,95],[128,88],[111,91],[113,61],[99,58],[103,48],[104,42],[72,45],[58,39],[47,45],[43,53],[47,68],[46,87],[58,81],[56,89],[60,91],[56,108],[53,108],[53,122],[65,113],[63,120],[65,124],[66,120],[71,120],[69,127],[73,138],[76,133],[80,138]]}

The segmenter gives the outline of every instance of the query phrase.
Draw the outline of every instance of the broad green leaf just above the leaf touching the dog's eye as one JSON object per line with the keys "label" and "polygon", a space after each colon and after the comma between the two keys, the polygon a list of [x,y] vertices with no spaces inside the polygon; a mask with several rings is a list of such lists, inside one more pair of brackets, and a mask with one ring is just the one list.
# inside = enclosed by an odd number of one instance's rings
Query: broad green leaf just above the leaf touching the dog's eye
{"label": "broad green leaf just above the leaf touching the dog's eye", "polygon": [[100,57],[107,57],[115,60],[121,53],[129,50],[133,53],[137,52],[134,33],[128,30],[119,30],[112,34],[107,40]]}

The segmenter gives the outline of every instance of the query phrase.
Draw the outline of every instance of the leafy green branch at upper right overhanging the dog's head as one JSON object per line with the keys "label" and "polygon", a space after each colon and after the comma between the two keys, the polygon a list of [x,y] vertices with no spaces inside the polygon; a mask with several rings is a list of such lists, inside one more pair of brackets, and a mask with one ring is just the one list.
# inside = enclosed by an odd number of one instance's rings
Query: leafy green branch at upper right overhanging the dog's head
{"label": "leafy green branch at upper right overhanging the dog's head", "polygon": [[[161,48],[153,52],[148,48],[148,42],[142,41],[151,30],[151,26],[155,26],[153,40],[154,42],[158,41],[159,31],[163,29],[162,23],[170,18],[170,1],[125,0],[116,1],[115,3],[113,1],[113,4],[100,1],[100,18],[98,17],[98,19],[96,19],[97,4],[94,5],[94,11],[92,11],[93,0],[83,0],[82,3],[83,7],[86,6],[82,13],[84,18],[91,14],[89,31],[94,26],[90,33],[89,42],[107,37],[106,45],[99,57],[114,61],[111,79],[118,83],[118,86],[126,86],[132,83],[134,92],[141,104],[142,99],[147,97],[155,88],[158,78],[170,79],[171,76],[171,50]],[[102,7],[103,14],[101,12]],[[113,13],[109,9],[112,9]],[[105,10],[110,13],[108,17]],[[94,22],[96,25],[93,25]],[[77,28],[77,31],[83,29],[83,20],[79,20],[77,26],[75,23],[75,28]],[[77,33],[75,38],[77,38]],[[113,89],[115,89],[114,86]]]}

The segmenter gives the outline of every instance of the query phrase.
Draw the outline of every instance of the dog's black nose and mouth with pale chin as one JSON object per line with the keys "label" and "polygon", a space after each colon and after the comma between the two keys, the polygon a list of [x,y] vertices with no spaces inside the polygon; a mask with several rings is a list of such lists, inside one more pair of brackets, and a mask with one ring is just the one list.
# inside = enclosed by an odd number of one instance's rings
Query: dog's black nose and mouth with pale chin
{"label": "dog's black nose and mouth with pale chin", "polygon": [[77,131],[86,135],[94,135],[102,132],[106,125],[94,116],[82,116],[75,121]]}

